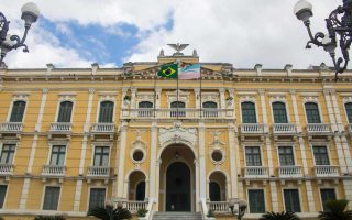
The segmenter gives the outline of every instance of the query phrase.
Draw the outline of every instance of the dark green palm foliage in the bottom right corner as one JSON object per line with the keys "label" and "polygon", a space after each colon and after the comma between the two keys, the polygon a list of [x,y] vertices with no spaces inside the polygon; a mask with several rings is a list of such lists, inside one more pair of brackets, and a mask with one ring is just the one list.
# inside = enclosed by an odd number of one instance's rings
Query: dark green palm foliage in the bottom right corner
{"label": "dark green palm foliage in the bottom right corner", "polygon": [[352,210],[346,210],[349,200],[327,201],[327,211],[320,211],[318,218],[321,220],[352,220]]}

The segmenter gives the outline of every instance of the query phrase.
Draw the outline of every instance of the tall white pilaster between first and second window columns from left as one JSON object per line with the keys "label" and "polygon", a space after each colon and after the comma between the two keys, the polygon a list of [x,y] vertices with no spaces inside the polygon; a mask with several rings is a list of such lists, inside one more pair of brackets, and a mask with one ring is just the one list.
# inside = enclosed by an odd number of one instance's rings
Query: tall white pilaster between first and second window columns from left
{"label": "tall white pilaster between first and second window columns from left", "polygon": [[31,185],[31,173],[33,168],[33,163],[34,163],[34,157],[35,157],[35,150],[36,150],[36,144],[38,140],[38,134],[41,132],[42,128],[42,121],[43,121],[43,114],[44,114],[44,108],[46,103],[46,97],[47,97],[48,89],[44,88],[42,91],[42,101],[41,101],[41,109],[40,113],[37,116],[37,121],[35,124],[35,133],[32,142],[32,147],[31,147],[31,153],[30,153],[30,161],[29,161],[29,166],[26,168],[26,177],[24,178],[23,187],[22,187],[22,193],[21,193],[21,199],[20,199],[20,205],[19,209],[25,209],[26,208],[26,199],[29,196],[29,190],[30,190],[30,185]]}

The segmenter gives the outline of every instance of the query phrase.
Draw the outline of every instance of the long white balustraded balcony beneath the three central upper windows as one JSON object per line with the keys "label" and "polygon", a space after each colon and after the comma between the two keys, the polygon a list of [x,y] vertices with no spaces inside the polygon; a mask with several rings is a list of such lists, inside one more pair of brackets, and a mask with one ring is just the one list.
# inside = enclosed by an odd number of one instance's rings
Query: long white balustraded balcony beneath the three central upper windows
{"label": "long white balustraded balcony beneath the three central upper windows", "polygon": [[151,119],[162,120],[178,119],[233,119],[233,109],[122,109],[123,119]]}

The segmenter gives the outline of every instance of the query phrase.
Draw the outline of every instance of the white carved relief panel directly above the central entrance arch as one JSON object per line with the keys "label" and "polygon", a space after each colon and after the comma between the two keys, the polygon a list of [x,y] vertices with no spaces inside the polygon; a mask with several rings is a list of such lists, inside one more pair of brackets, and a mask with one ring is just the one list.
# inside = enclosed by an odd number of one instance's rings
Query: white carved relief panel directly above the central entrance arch
{"label": "white carved relief panel directly above the central entrance arch", "polygon": [[160,147],[165,147],[170,144],[186,144],[195,147],[197,144],[197,129],[182,128],[175,125],[168,129],[161,128],[158,132]]}

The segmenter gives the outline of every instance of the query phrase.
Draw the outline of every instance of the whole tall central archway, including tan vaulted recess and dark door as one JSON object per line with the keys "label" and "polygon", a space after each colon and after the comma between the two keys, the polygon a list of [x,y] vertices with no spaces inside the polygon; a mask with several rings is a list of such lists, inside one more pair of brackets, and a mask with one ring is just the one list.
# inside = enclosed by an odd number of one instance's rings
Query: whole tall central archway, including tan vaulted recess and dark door
{"label": "whole tall central archway, including tan vaulted recess and dark door", "polygon": [[184,144],[173,144],[160,152],[160,207],[163,211],[196,210],[195,153]]}

